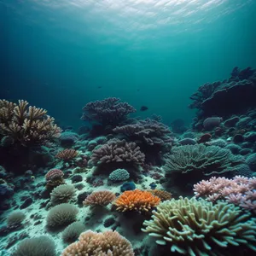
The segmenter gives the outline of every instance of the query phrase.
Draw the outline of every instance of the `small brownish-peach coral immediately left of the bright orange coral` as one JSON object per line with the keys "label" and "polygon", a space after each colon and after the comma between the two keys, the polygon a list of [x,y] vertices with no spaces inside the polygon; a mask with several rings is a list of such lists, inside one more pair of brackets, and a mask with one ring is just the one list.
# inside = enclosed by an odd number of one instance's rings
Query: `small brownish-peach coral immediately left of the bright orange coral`
{"label": "small brownish-peach coral immediately left of the bright orange coral", "polygon": [[113,192],[109,190],[102,190],[92,192],[88,195],[83,204],[84,206],[107,206],[115,199]]}

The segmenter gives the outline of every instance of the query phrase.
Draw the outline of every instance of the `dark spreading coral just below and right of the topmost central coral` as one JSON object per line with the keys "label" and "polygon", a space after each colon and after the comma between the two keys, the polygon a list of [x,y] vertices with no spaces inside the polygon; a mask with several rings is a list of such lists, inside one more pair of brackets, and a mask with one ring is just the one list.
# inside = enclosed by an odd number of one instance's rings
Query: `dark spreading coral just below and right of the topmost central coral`
{"label": "dark spreading coral just below and right of the topmost central coral", "polygon": [[144,119],[137,121],[136,124],[117,126],[113,131],[150,146],[172,144],[172,132],[168,126],[154,119]]}

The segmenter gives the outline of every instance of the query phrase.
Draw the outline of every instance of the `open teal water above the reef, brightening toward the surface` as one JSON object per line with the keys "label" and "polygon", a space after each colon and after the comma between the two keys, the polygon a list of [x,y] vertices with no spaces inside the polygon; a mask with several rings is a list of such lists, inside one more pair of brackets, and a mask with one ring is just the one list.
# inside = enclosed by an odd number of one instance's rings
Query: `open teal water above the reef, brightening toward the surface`
{"label": "open teal water above the reef, brightening toward the surface", "polygon": [[189,123],[199,85],[256,67],[255,13],[253,0],[2,0],[0,96],[75,127],[107,96]]}

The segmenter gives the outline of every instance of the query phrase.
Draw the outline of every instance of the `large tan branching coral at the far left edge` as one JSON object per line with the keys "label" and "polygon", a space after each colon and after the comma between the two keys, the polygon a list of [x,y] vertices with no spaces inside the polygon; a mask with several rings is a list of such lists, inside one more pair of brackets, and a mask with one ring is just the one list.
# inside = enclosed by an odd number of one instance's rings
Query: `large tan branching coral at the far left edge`
{"label": "large tan branching coral at the far left edge", "polygon": [[43,108],[28,106],[28,102],[0,100],[0,134],[10,136],[23,146],[46,143],[59,137],[61,128]]}

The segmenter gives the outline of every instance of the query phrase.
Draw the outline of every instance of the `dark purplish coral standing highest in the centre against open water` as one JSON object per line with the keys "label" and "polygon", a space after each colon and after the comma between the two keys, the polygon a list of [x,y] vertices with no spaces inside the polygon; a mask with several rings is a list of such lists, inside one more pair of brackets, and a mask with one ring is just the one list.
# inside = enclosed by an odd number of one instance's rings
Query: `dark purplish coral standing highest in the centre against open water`
{"label": "dark purplish coral standing highest in the centre against open water", "polygon": [[119,98],[109,97],[102,101],[89,102],[83,108],[81,119],[96,121],[102,125],[118,125],[129,113],[136,112],[127,102],[119,101]]}

